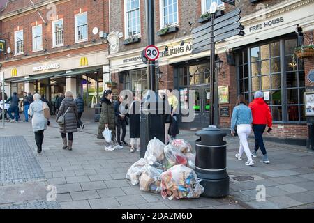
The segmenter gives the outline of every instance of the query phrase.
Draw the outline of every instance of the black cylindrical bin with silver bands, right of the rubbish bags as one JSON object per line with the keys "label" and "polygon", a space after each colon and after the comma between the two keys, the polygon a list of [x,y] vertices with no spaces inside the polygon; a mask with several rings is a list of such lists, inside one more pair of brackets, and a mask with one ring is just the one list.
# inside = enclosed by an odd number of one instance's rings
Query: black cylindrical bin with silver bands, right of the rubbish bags
{"label": "black cylindrical bin with silver bands, right of the rubbish bags", "polygon": [[195,133],[195,172],[202,179],[203,197],[225,197],[229,194],[227,174],[227,134],[218,128],[204,128]]}

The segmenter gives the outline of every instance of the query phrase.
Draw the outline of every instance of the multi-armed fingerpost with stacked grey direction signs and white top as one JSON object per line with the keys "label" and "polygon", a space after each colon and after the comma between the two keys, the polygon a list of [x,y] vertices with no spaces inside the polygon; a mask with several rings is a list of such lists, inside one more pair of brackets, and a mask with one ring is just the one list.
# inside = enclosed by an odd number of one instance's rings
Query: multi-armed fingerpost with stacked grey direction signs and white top
{"label": "multi-armed fingerpost with stacked grey direction signs and white top", "polygon": [[[234,5],[234,0],[224,0],[225,3]],[[192,54],[197,54],[207,50],[211,51],[210,56],[210,84],[211,84],[211,111],[210,125],[218,124],[218,75],[215,73],[215,43],[232,36],[244,36],[244,26],[241,25],[239,8],[216,19],[217,3],[211,3],[211,19],[207,24],[193,29],[193,50]],[[215,93],[215,94],[214,94]],[[215,123],[214,123],[215,122]]]}

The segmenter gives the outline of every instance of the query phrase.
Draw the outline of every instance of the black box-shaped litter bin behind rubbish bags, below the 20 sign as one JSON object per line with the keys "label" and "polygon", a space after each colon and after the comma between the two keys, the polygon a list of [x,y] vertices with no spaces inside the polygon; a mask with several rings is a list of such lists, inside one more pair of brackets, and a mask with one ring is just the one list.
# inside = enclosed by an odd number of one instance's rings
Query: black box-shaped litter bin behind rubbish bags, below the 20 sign
{"label": "black box-shaped litter bin behind rubbish bags, below the 20 sign", "polygon": [[163,100],[158,96],[158,93],[149,90],[144,95],[142,102],[140,115],[140,157],[144,157],[147,145],[154,137],[160,141],[165,141]]}

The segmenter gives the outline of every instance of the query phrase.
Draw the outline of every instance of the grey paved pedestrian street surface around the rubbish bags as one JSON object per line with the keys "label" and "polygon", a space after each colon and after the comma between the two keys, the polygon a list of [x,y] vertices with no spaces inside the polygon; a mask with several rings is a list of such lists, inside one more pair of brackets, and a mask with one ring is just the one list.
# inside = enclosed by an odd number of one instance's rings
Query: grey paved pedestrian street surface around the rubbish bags
{"label": "grey paved pedestrian street surface around the rubbish bags", "polygon": [[[84,123],[84,130],[74,134],[73,151],[65,151],[52,122],[39,155],[31,123],[6,123],[0,129],[0,208],[314,208],[314,151],[304,146],[267,141],[271,163],[262,164],[257,157],[254,167],[246,167],[245,156],[241,161],[234,157],[239,139],[225,137],[230,195],[170,201],[126,180],[140,153],[130,153],[128,146],[104,151],[103,139],[96,139],[98,123]],[[186,130],[178,138],[193,147],[197,139]],[[249,139],[250,148],[253,143]]]}

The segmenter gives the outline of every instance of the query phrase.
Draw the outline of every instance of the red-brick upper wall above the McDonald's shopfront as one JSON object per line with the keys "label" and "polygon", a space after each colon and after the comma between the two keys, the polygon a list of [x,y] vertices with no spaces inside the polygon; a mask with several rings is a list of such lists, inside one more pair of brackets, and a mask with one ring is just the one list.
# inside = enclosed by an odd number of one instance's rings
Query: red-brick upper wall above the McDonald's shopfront
{"label": "red-brick upper wall above the McDonald's shopfront", "polygon": [[[21,2],[19,0],[12,1],[8,3],[7,10],[10,9],[11,4]],[[23,1],[24,2],[24,1]],[[14,5],[15,6],[15,5]],[[20,7],[20,6],[19,6]],[[50,15],[50,9],[41,8],[40,14],[43,16],[44,20],[47,22],[47,25],[43,24],[40,16],[35,10],[29,11],[28,13],[17,15],[14,17],[9,17],[1,21],[1,36],[8,38],[7,47],[12,49],[14,52],[14,31],[23,29],[24,35],[24,54],[29,54],[29,56],[39,56],[38,59],[42,59],[44,55],[54,54],[54,52],[60,51],[61,49],[68,49],[66,45],[70,45],[71,48],[82,47],[85,45],[91,45],[92,40],[96,40],[96,43],[101,43],[99,35],[94,35],[92,29],[98,27],[99,31],[108,31],[109,20],[108,17],[108,3],[107,1],[94,1],[94,0],[84,0],[84,1],[58,1],[56,3],[56,13],[58,19],[63,18],[63,41],[64,47],[52,48],[52,20],[47,20],[47,15]],[[15,8],[16,10],[17,8]],[[88,41],[83,43],[74,43],[75,42],[75,14],[80,12],[87,11],[87,28],[88,28]],[[3,13],[6,13],[5,10]],[[32,26],[37,24],[42,24],[43,26],[43,50],[47,49],[47,54],[43,51],[32,52]],[[93,48],[93,47],[92,47]],[[82,51],[89,52],[89,50],[97,50],[97,47],[92,48],[83,48],[77,49],[77,53],[82,53]],[[98,46],[98,49],[107,49],[107,47]],[[68,52],[66,53],[68,54]],[[56,56],[61,56],[63,53],[58,53]],[[13,55],[10,55],[9,58],[12,58]],[[25,56],[13,56],[14,59],[21,59],[24,61]],[[29,61],[36,59],[29,58]],[[5,63],[10,63],[10,61],[4,61]],[[16,62],[12,62],[13,64]]]}

